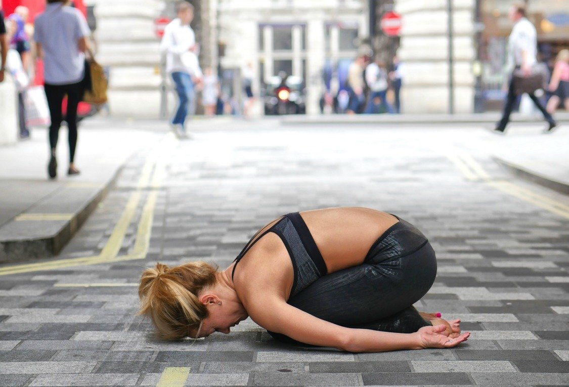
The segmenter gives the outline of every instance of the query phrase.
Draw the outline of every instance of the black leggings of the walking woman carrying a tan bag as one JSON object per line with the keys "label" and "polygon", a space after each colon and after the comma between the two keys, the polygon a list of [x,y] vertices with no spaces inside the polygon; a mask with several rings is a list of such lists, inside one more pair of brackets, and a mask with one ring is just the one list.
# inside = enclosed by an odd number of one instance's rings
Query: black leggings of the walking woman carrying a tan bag
{"label": "black leggings of the walking woman carrying a tan bag", "polygon": [[69,141],[69,162],[72,163],[75,158],[75,147],[77,145],[77,105],[83,98],[85,92],[83,81],[67,85],[50,85],[44,84],[46,90],[47,105],[50,108],[51,125],[50,125],[50,148],[52,151],[57,146],[59,138],[59,127],[63,121],[61,113],[61,103],[63,97],[67,94],[67,114],[65,121],[68,127]]}

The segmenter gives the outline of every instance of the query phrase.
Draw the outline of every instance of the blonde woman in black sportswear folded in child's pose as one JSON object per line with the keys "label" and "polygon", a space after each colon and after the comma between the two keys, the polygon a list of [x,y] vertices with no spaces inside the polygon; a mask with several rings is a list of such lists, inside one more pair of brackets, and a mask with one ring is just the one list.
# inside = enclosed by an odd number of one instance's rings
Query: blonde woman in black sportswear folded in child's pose
{"label": "blonde woman in black sportswear folded in child's pose", "polygon": [[205,262],[142,273],[139,314],[166,340],[228,334],[249,316],[277,340],[349,352],[449,348],[460,320],[413,307],[435,280],[427,238],[369,208],[289,213],[224,271]]}

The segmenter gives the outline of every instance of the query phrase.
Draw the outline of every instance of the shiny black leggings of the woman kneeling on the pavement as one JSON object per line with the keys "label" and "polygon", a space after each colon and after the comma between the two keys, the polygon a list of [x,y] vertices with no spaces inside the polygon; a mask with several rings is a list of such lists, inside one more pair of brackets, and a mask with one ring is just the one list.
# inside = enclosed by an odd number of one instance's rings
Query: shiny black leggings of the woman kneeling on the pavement
{"label": "shiny black leggings of the woman kneeling on the pavement", "polygon": [[[431,288],[435,276],[435,252],[426,239],[395,256],[386,254],[385,244],[376,242],[363,264],[324,275],[288,303],[344,327],[412,333],[431,325],[413,304]],[[282,334],[269,334],[295,343]]]}

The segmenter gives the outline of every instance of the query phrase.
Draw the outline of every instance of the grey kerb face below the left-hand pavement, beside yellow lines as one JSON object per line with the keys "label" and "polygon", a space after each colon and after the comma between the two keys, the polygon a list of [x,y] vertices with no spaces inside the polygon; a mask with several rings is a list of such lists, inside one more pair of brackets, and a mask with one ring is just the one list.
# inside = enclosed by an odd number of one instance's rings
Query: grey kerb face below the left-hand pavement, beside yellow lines
{"label": "grey kerb face below the left-hand pavement, beside yellow lines", "polygon": [[75,212],[71,219],[65,221],[55,234],[38,238],[0,241],[0,264],[48,258],[58,254],[81,228],[81,225],[85,223],[98,204],[105,199],[110,188],[116,183],[123,167],[124,165],[119,166],[113,176],[102,183],[101,188],[88,197],[83,207]]}

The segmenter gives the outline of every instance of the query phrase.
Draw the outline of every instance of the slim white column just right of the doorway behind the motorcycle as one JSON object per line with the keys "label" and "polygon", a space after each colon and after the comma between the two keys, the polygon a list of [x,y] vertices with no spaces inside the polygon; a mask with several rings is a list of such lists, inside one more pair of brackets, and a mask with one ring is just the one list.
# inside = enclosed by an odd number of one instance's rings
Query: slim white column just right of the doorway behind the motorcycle
{"label": "slim white column just right of the doorway behind the motorcycle", "polygon": [[306,114],[320,114],[325,59],[324,20],[315,15],[306,25]]}

